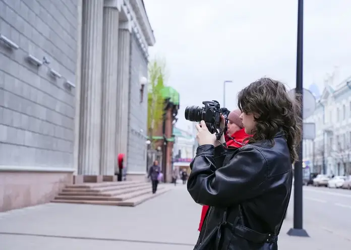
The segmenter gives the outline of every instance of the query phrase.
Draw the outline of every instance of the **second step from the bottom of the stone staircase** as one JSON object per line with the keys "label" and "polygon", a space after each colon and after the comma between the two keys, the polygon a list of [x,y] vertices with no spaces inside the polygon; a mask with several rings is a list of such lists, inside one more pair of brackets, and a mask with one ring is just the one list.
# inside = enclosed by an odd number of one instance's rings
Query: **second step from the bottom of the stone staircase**
{"label": "second step from the bottom of the stone staircase", "polygon": [[147,193],[151,192],[151,186],[148,186],[147,188],[143,188],[141,190],[137,190],[134,192],[130,193],[125,193],[125,194],[120,194],[120,195],[114,195],[114,196],[87,196],[87,195],[82,195],[82,196],[74,196],[74,195],[59,195],[55,197],[55,200],[106,200],[106,201],[123,201],[127,199],[131,199],[137,196],[141,196]]}

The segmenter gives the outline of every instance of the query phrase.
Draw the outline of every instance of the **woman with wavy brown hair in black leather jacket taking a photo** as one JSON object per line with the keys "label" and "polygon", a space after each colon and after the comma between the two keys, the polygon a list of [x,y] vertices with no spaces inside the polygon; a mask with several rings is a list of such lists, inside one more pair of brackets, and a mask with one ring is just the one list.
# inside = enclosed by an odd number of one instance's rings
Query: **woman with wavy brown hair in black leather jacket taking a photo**
{"label": "woman with wavy brown hair in black leather jacket taking a photo", "polygon": [[[196,125],[199,147],[188,191],[210,206],[194,249],[276,250],[288,206],[291,164],[298,160],[301,107],[284,84],[262,78],[238,94],[245,132],[239,149],[216,141],[204,121]],[[224,127],[222,116],[221,127]]]}

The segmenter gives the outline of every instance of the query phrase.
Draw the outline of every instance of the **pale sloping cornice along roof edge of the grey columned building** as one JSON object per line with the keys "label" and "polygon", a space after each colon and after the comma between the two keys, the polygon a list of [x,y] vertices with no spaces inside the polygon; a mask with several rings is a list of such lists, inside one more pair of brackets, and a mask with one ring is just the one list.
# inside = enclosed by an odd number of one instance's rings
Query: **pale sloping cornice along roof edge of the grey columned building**
{"label": "pale sloping cornice along roof edge of the grey columned building", "polygon": [[136,17],[138,22],[141,24],[141,29],[146,38],[147,45],[153,46],[155,44],[155,36],[153,30],[151,28],[151,24],[149,22],[149,18],[147,17],[146,10],[143,4],[143,0],[130,0],[130,3],[133,7],[134,12],[136,13]]}

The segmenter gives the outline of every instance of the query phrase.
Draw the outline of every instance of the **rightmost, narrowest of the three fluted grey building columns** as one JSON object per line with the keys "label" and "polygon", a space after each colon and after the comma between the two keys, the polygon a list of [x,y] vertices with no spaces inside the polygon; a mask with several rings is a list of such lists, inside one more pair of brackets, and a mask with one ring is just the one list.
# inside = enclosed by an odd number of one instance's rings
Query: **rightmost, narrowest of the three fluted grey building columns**
{"label": "rightmost, narrowest of the three fluted grey building columns", "polygon": [[[117,85],[117,122],[116,122],[116,151],[127,154],[128,125],[129,125],[129,74],[131,53],[131,24],[120,24],[119,31],[119,64]],[[142,152],[140,152],[142,153]],[[125,157],[125,161],[127,157]]]}

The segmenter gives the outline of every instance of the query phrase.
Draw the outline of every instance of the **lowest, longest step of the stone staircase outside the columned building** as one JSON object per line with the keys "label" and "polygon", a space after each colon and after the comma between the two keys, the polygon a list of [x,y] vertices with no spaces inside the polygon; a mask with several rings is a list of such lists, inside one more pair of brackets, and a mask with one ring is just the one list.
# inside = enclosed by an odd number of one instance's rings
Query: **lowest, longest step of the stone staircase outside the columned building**
{"label": "lowest, longest step of the stone staircase outside the columned building", "polygon": [[91,205],[109,205],[109,206],[126,206],[126,207],[135,207],[149,199],[157,197],[161,194],[166,193],[167,191],[171,190],[169,187],[160,187],[157,190],[156,194],[152,194],[151,191],[149,193],[145,193],[138,197],[133,197],[128,200],[124,201],[110,201],[110,200],[52,200],[51,202],[57,203],[73,203],[73,204],[91,204]]}

